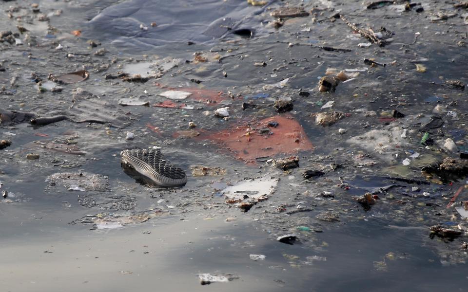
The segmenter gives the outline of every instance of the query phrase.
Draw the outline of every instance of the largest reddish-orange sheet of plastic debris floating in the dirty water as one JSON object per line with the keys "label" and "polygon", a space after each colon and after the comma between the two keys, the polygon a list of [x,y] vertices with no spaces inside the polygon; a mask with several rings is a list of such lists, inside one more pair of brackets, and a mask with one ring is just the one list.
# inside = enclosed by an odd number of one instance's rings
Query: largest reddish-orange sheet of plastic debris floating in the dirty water
{"label": "largest reddish-orange sheet of plastic debris floating in the dirty water", "polygon": [[302,126],[291,116],[284,115],[237,125],[212,134],[208,139],[234,152],[238,159],[246,162],[313,149]]}

